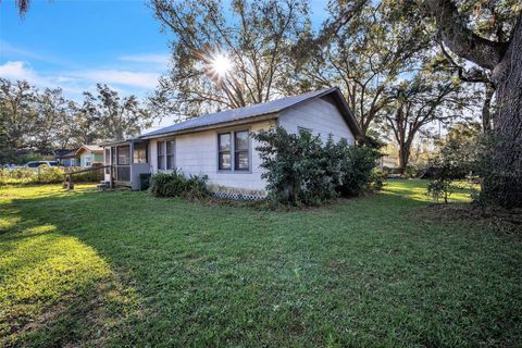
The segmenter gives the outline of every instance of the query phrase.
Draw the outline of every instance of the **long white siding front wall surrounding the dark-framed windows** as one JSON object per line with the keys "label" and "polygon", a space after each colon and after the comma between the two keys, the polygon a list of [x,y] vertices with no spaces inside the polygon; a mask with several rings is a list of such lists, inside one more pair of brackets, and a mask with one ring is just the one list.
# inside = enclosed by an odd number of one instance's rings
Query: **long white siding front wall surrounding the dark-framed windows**
{"label": "long white siding front wall surrounding the dark-framed windows", "polygon": [[[257,141],[250,139],[251,172],[220,173],[217,171],[217,133],[245,129],[257,132],[260,129],[266,129],[273,124],[273,122],[271,123],[265,121],[231,128],[220,128],[178,135],[174,138],[175,166],[181,169],[186,175],[207,174],[209,176],[209,182],[212,185],[247,190],[264,190],[266,183],[261,178],[262,170],[259,167],[261,160],[256,151],[256,147],[258,146]],[[151,139],[149,142],[149,163],[151,164],[152,174],[158,173],[158,140],[163,139]]]}

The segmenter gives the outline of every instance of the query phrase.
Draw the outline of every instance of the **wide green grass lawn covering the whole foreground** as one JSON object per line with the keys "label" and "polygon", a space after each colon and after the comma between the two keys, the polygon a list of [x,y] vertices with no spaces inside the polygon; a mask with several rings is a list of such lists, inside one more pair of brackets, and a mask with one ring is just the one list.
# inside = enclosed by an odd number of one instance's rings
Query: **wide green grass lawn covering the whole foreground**
{"label": "wide green grass lawn covering the whole foreground", "polygon": [[423,191],[272,212],[0,188],[0,346],[520,346],[520,236],[422,220]]}

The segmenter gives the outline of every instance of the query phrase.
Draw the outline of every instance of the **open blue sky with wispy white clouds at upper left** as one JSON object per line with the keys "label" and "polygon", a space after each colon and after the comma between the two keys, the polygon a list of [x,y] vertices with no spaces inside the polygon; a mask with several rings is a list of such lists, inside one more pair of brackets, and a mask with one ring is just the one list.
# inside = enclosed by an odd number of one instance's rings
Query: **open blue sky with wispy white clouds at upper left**
{"label": "open blue sky with wispy white clouds at upper left", "polygon": [[[325,2],[312,1],[314,24]],[[62,87],[76,100],[97,83],[142,98],[167,71],[171,38],[146,0],[33,0],[24,18],[2,0],[0,76]]]}

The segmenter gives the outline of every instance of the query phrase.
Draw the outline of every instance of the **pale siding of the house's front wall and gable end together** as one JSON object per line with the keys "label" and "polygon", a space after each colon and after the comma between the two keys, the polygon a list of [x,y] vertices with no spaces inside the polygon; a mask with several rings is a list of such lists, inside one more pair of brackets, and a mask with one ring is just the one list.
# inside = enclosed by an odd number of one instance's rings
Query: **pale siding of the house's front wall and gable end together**
{"label": "pale siding of the house's front wall and gable end together", "polygon": [[[337,107],[328,99],[315,99],[279,114],[278,124],[289,133],[297,133],[298,127],[304,127],[319,134],[323,140],[332,134],[335,141],[346,138],[355,144],[355,137],[343,119]],[[261,178],[261,160],[256,151],[258,144],[250,139],[250,167],[248,173],[225,173],[217,170],[217,134],[227,130],[257,132],[275,126],[275,122],[263,121],[248,125],[196,132],[175,137],[151,139],[149,142],[149,163],[152,174],[158,173],[158,140],[174,139],[174,163],[186,175],[207,174],[214,186],[225,186],[238,190],[264,190],[266,183]],[[169,172],[169,171],[162,171]]]}

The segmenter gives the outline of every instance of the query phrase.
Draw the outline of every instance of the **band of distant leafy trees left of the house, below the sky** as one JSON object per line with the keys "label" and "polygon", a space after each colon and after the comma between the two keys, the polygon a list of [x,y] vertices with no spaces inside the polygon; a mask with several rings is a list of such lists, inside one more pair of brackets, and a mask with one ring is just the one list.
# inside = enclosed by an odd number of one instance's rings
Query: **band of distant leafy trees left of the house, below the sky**
{"label": "band of distant leafy trees left of the house, below the sky", "polygon": [[123,139],[150,127],[153,116],[135,96],[120,97],[107,85],[85,92],[80,104],[62,89],[38,90],[25,80],[0,78],[0,162],[24,152],[53,154],[100,139]]}

